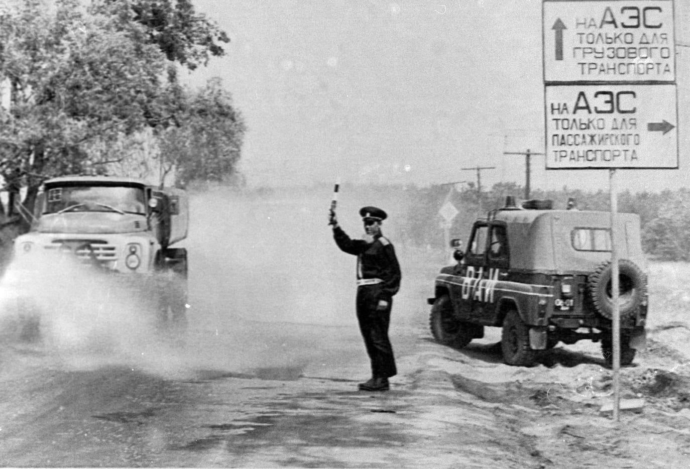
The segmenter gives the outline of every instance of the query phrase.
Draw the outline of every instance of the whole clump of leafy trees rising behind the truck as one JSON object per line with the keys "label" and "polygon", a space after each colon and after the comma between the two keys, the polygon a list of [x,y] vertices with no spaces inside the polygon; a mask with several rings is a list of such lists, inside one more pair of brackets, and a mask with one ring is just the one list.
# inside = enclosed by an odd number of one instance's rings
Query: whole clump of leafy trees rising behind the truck
{"label": "whole clump of leafy trees rising behind the truck", "polygon": [[136,174],[159,157],[181,184],[234,174],[244,121],[230,94],[216,82],[199,94],[179,86],[172,62],[193,70],[227,41],[188,0],[15,2],[0,12],[0,77],[12,86],[0,175],[28,188],[30,211],[43,179],[113,163]]}

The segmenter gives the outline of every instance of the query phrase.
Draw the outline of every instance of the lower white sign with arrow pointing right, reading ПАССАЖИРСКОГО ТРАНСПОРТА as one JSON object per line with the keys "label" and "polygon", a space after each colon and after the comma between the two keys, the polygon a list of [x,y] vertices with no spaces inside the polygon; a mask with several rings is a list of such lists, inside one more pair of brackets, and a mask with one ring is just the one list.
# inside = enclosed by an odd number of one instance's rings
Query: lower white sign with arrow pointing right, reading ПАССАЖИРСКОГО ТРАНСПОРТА
{"label": "lower white sign with arrow pointing right, reading \u041f\u0410\u0421\u0421\u0410\u0416\u0418\u0420\u0421\u041a\u041e\u0413\u041e \u0422\u0420\u0410\u041d\u0421\u041f\u041e\u0420\u0422\u0410", "polygon": [[676,85],[552,85],[546,168],[678,168]]}

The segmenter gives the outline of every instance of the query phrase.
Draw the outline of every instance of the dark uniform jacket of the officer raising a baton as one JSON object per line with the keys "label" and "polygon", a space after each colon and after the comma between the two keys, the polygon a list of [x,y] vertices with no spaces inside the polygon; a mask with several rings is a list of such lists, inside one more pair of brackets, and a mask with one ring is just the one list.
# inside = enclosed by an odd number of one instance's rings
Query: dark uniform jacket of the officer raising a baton
{"label": "dark uniform jacket of the officer raising a baton", "polygon": [[378,235],[373,243],[363,239],[351,239],[340,228],[333,228],[333,237],[338,248],[357,256],[357,280],[381,279],[379,286],[388,297],[400,289],[400,264],[395,257],[393,244],[386,237]]}

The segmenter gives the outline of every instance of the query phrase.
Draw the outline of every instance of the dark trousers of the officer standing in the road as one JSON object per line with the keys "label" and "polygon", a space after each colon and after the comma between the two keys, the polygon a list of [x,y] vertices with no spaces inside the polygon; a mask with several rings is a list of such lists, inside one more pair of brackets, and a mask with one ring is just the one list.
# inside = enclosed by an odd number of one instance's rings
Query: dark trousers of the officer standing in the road
{"label": "dark trousers of the officer standing in the road", "polygon": [[366,353],[371,360],[371,374],[374,377],[387,378],[397,374],[393,347],[388,340],[388,324],[391,322],[393,301],[388,298],[388,308],[377,310],[381,298],[380,286],[367,285],[357,288],[357,321],[364,338]]}

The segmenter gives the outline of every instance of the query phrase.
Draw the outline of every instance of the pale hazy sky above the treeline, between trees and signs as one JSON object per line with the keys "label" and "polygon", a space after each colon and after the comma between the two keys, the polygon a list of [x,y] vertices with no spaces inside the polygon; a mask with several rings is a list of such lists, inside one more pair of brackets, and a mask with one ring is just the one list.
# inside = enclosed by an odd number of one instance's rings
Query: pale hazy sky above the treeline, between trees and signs
{"label": "pale hazy sky above the treeline, between trees and signs", "polygon": [[[540,0],[194,0],[224,29],[221,77],[244,113],[252,186],[331,182],[524,184],[544,152]],[[611,1],[614,5],[620,2]],[[676,42],[690,44],[676,0]],[[690,186],[690,48],[679,46],[680,170],[620,170],[622,189]],[[607,170],[545,170],[533,188],[607,189]]]}

